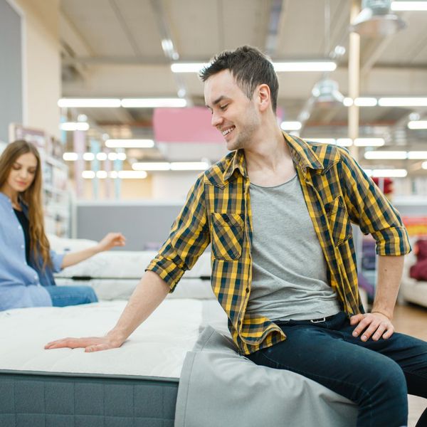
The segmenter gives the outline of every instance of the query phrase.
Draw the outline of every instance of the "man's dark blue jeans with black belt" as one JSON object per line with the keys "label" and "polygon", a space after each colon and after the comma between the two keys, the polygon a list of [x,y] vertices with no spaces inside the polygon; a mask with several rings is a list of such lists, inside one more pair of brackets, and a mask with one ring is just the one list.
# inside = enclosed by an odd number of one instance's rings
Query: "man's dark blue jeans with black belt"
{"label": "man's dark blue jeans with black belt", "polygon": [[[427,342],[421,339],[395,332],[389,339],[363,342],[352,336],[356,326],[344,312],[320,323],[277,324],[288,338],[248,358],[297,372],[354,401],[357,426],[406,426],[407,394],[427,398]],[[427,409],[421,426],[427,426]]]}

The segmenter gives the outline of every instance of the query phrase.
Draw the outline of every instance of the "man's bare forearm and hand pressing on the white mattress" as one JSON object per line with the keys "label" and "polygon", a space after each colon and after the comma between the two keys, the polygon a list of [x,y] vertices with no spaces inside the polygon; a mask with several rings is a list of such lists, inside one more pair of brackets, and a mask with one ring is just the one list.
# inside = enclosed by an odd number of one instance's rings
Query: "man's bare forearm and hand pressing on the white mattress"
{"label": "man's bare forearm and hand pressing on the white mattress", "polygon": [[64,338],[46,344],[45,349],[84,348],[85,352],[120,347],[169,293],[169,285],[159,275],[147,271],[139,281],[115,327],[104,337]]}

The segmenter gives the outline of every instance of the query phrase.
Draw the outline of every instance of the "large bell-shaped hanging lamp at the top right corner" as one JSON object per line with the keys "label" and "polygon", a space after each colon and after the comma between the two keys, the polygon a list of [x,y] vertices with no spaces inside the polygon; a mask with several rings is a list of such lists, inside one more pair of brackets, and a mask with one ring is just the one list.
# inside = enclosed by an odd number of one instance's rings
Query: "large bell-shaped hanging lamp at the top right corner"
{"label": "large bell-shaped hanging lamp at the top right corner", "polygon": [[362,11],[352,22],[350,31],[361,36],[384,37],[405,27],[405,21],[391,11],[391,0],[362,0]]}

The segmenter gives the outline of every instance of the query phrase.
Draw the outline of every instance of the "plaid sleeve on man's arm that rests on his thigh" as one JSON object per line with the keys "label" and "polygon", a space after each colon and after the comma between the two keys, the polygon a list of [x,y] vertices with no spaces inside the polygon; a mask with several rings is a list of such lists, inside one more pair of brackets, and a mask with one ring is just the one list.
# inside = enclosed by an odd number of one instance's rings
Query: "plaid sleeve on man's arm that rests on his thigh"
{"label": "plaid sleeve on man's arm that rests on his thigh", "polygon": [[401,216],[347,149],[339,148],[339,167],[347,211],[362,233],[376,241],[378,255],[406,255],[411,252],[408,233]]}

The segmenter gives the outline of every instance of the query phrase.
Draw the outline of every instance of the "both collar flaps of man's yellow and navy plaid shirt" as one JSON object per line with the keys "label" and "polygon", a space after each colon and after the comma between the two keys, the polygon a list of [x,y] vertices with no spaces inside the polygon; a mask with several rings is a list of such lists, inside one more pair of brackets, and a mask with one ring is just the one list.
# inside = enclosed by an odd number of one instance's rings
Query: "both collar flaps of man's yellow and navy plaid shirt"
{"label": "both collar flaps of man's yellow and navy plaid shirt", "polygon": [[[288,135],[286,132],[283,133],[283,138],[290,148],[290,155],[295,167],[299,168],[301,172],[306,175],[307,168],[322,171],[324,169],[322,162],[319,157],[315,154],[309,144],[303,139]],[[234,171],[238,169],[238,172],[243,176],[247,176],[246,160],[243,149],[237,149],[234,152],[231,162],[224,171],[223,180],[228,181],[233,175]]]}

